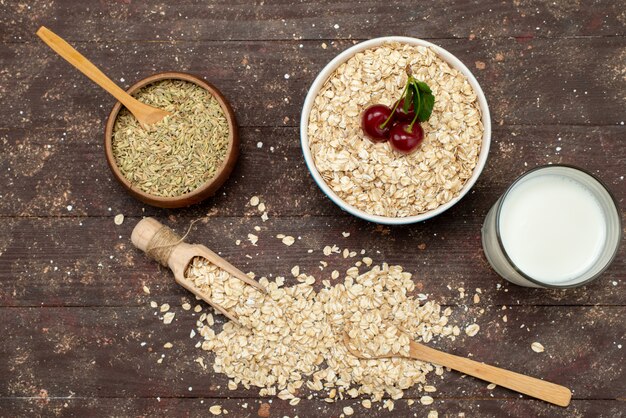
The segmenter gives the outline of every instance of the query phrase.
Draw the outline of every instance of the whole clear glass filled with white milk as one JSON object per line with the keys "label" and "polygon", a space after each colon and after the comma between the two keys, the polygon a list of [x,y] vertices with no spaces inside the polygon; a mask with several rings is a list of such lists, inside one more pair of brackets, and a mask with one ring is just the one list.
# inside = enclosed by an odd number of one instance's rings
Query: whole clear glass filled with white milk
{"label": "whole clear glass filled with white milk", "polygon": [[621,213],[595,176],[566,165],[520,176],[482,228],[493,269],[528,287],[568,288],[597,278],[617,255]]}

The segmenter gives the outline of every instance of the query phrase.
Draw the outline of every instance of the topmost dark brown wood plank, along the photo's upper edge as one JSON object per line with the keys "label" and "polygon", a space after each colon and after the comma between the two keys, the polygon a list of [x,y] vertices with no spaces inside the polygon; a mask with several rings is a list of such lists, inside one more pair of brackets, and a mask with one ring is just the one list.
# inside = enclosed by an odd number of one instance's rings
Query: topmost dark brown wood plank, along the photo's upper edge
{"label": "topmost dark brown wood plank, along the photo's upper edge", "polygon": [[[362,39],[390,32],[422,38],[623,35],[619,2],[260,2],[197,0],[6,2],[0,40],[22,41],[39,25],[72,40],[169,41]],[[0,9],[1,10],[1,9]],[[93,28],[98,30],[94,31]]]}

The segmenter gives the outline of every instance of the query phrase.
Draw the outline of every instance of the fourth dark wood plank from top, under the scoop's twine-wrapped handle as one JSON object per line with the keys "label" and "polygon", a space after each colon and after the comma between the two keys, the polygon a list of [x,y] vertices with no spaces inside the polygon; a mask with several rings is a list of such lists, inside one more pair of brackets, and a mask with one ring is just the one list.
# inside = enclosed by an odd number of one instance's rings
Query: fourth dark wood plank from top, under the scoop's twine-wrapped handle
{"label": "fourth dark wood plank from top, under the scoop's twine-wrapped handle", "polygon": [[[126,218],[121,226],[113,215],[101,218],[5,218],[0,230],[0,305],[2,306],[142,306],[155,295],[178,300],[189,294],[171,272],[160,268],[130,243],[139,218]],[[181,234],[190,219],[161,220]],[[254,226],[260,226],[257,232]],[[348,238],[342,232],[350,232]],[[259,236],[257,246],[247,235]],[[291,247],[275,238],[279,233],[301,237]],[[241,245],[236,245],[241,240]],[[563,291],[510,285],[488,265],[482,252],[480,223],[467,222],[452,211],[432,222],[382,228],[354,218],[276,217],[266,223],[249,218],[213,217],[197,223],[188,242],[220,252],[244,271],[258,276],[285,276],[294,265],[321,280],[333,269],[345,272],[359,260],[341,255],[326,257],[322,249],[366,250],[376,263],[388,262],[414,273],[419,293],[444,304],[472,304],[476,288],[483,292],[481,306],[492,305],[626,305],[626,246],[604,275],[594,283]],[[420,249],[421,248],[421,249]],[[308,250],[314,250],[308,253]],[[250,257],[250,258],[248,258]],[[329,266],[319,269],[320,261]],[[364,271],[364,270],[363,270]],[[458,299],[457,289],[467,296]]]}

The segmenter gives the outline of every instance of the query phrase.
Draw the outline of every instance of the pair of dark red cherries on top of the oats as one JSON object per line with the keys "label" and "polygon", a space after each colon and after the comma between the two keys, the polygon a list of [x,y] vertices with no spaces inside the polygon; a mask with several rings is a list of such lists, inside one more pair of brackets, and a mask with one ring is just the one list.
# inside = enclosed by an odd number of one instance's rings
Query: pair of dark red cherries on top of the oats
{"label": "pair of dark red cherries on top of the oats", "polygon": [[391,148],[402,153],[414,152],[424,140],[424,130],[415,117],[413,103],[405,111],[404,98],[393,109],[375,104],[363,112],[361,128],[372,142],[389,141]]}

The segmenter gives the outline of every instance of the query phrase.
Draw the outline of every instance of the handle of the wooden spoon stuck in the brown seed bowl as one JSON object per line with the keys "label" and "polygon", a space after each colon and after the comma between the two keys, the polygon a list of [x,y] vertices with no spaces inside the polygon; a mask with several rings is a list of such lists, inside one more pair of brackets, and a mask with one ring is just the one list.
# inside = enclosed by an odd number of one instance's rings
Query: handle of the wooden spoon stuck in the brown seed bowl
{"label": "handle of the wooden spoon stuck in the brown seed bowl", "polygon": [[117,84],[115,84],[109,77],[104,75],[95,65],[93,65],[87,58],[81,55],[80,52],[72,48],[70,44],[65,42],[57,34],[42,26],[37,31],[37,36],[41,38],[50,48],[57,54],[63,57],[67,62],[76,67],[77,70],[89,77],[94,83],[108,91],[117,100],[122,102],[131,112],[139,102],[132,96],[122,90]]}

